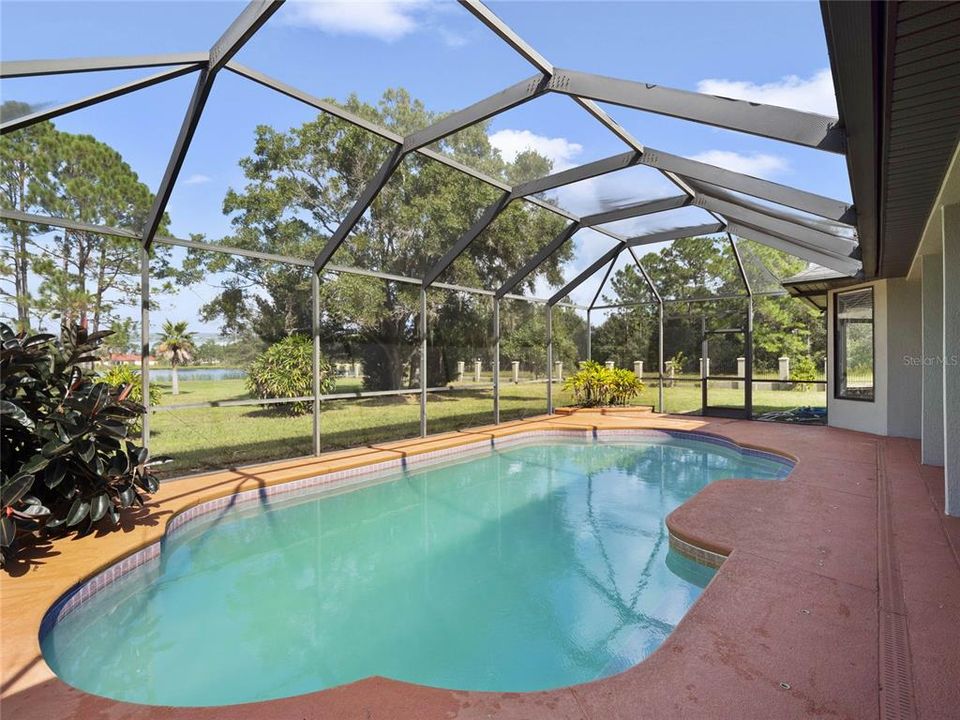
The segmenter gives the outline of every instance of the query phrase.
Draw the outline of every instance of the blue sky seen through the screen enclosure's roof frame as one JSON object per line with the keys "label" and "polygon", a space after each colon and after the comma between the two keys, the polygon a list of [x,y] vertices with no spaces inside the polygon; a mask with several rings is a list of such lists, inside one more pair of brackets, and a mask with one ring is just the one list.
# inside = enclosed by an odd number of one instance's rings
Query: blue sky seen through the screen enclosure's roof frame
{"label": "blue sky seen through the screen enclosure's roof frame", "polygon": [[[19,2],[0,4],[3,60],[205,50],[242,9],[236,2]],[[491,9],[556,66],[687,90],[744,97],[835,114],[829,62],[816,2],[491,2]],[[374,102],[403,86],[433,110],[463,107],[534,73],[508,46],[455,3],[288,2],[237,60],[324,97],[351,92]],[[5,81],[4,99],[49,104],[112,87],[153,71]],[[116,147],[156,189],[190,97],[194,76],[60,118]],[[820,151],[624,108],[609,112],[641,142],[825,195],[849,199],[842,158]],[[239,187],[237,160],[253,128],[288,128],[311,108],[230,73],[218,77],[171,199],[179,236],[229,230],[225,190]],[[492,141],[505,155],[534,147],[557,167],[625,147],[568,98],[547,96],[496,118]],[[647,168],[560,192],[578,213],[605,202],[675,194]],[[707,222],[700,211],[626,222],[637,233]],[[572,277],[609,246],[583,232]],[[541,288],[544,292],[547,288]],[[576,299],[589,300],[588,284]],[[195,291],[202,300],[206,293]],[[164,313],[176,313],[171,307]]]}

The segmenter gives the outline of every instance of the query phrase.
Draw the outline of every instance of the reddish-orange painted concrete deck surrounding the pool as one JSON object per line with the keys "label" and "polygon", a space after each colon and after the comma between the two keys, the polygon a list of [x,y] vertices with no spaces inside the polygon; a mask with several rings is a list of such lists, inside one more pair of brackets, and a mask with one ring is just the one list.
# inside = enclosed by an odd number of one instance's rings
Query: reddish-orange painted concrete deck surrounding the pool
{"label": "reddish-orange painted concrete deck surrounding the pool", "polygon": [[[667,520],[680,540],[728,555],[676,631],[626,672],[556,691],[436,690],[383,678],[285,700],[161,708],[58,680],[37,629],[70,585],[148,542],[211,497],[335,468],[525,430],[691,429],[797,459],[784,482],[711,484]],[[121,532],[38,549],[0,581],[0,712],[70,718],[960,718],[960,519],[919,443],[834,428],[575,413],[168,482]]]}

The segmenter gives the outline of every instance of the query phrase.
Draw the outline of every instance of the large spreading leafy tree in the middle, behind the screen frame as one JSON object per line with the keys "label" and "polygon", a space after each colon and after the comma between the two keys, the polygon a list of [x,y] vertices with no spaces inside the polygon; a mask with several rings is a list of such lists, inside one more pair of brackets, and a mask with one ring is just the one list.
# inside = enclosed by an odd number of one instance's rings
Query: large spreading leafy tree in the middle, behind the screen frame
{"label": "large spreading leafy tree in the middle, behind the screen frame", "polygon": [[[367,120],[407,134],[434,122],[404,90],[388,90],[369,105],[352,96],[346,109]],[[508,182],[547,174],[550,163],[533,152],[506,162],[479,123],[438,143],[439,149],[472,167]],[[246,249],[313,259],[373,177],[391,146],[371,133],[329,115],[286,132],[257,128],[253,153],[241,160],[247,179],[231,190],[224,213],[233,234],[222,243]],[[457,237],[492,203],[499,191],[464,173],[419,154],[407,156],[368,213],[336,253],[334,262],[383,272],[422,277]],[[512,203],[445,273],[443,280],[474,287],[496,287],[566,221],[522,202]],[[527,278],[560,282],[559,268],[570,245]],[[209,254],[208,254],[209,255]],[[244,258],[194,255],[207,273],[229,272],[223,291],[203,310],[220,317],[225,328],[247,325],[270,342],[310,327],[309,267],[275,265]],[[212,263],[212,264],[211,264]],[[254,288],[263,288],[255,291]],[[371,389],[400,387],[417,351],[419,290],[376,278],[331,273],[323,279],[322,333],[327,344],[349,344],[364,361]],[[443,310],[447,299],[430,294],[431,325],[444,314],[440,332],[459,322]],[[439,339],[439,338],[438,338]],[[338,353],[329,353],[331,357]]]}

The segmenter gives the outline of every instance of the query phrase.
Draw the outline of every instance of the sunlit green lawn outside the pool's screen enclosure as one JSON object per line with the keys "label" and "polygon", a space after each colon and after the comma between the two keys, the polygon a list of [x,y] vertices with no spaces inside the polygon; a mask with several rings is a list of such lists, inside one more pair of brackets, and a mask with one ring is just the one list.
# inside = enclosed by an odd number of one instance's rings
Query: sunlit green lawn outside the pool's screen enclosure
{"label": "sunlit green lawn outside the pool's screen enclosure", "polygon": [[[507,376],[509,378],[509,376]],[[513,420],[546,412],[544,383],[514,385],[504,378],[500,391],[501,420]],[[468,380],[472,375],[467,376]],[[181,381],[180,394],[172,395],[167,383],[161,405],[236,400],[249,397],[244,381]],[[359,390],[359,381],[340,379],[336,392]],[[697,412],[700,387],[678,383],[664,389],[668,412]],[[648,384],[635,403],[657,404],[657,387]],[[554,389],[558,407],[572,405],[569,393]],[[743,390],[711,389],[710,404],[743,405]],[[825,406],[822,389],[810,391],[754,392],[754,409]],[[321,449],[338,450],[391,440],[416,437],[420,431],[420,403],[417,394],[323,403],[320,413]],[[427,431],[440,433],[493,422],[493,390],[490,387],[455,386],[443,393],[431,393],[427,400]],[[155,412],[150,418],[150,443],[154,455],[169,455],[173,462],[163,466],[163,475],[181,475],[202,470],[308,455],[313,452],[313,416],[292,417],[274,407],[246,405],[179,409]]]}

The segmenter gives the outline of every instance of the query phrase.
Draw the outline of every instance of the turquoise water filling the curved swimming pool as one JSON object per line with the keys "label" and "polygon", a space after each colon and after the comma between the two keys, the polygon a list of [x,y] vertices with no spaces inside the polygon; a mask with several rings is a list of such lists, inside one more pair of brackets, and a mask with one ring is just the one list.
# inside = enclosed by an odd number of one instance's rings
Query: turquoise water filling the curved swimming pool
{"label": "turquoise water filling the curved swimming pool", "polygon": [[713,571],[664,517],[712,480],[790,466],[715,443],[549,441],[264,497],[170,537],[42,640],[67,683],[223,705],[382,675],[529,691],[650,655]]}

